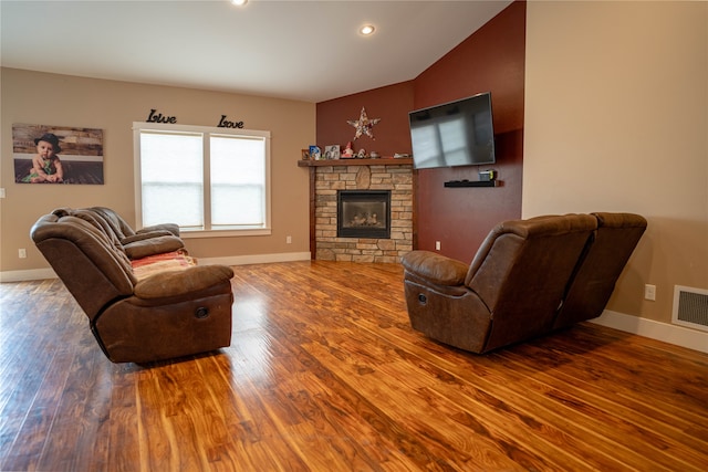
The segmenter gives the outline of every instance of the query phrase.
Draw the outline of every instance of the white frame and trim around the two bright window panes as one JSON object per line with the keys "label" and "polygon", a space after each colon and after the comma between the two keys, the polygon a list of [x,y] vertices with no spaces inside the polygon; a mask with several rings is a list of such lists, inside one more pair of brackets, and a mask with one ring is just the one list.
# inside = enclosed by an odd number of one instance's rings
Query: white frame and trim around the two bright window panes
{"label": "white frame and trim around the two bright window panes", "polygon": [[[196,133],[202,135],[204,146],[204,217],[205,228],[180,228],[179,234],[181,238],[215,238],[215,237],[241,237],[241,235],[268,235],[271,234],[271,179],[270,179],[270,132],[253,130],[253,129],[231,129],[219,128],[211,126],[192,126],[192,125],[178,125],[178,124],[164,124],[164,123],[133,123],[133,155],[134,155],[134,169],[135,169],[135,218],[136,227],[143,227],[143,177],[140,175],[140,133],[142,132],[184,132]],[[210,136],[243,136],[243,137],[258,137],[263,138],[266,143],[266,191],[264,191],[264,224],[260,228],[253,227],[229,227],[228,229],[211,229],[211,181],[209,175],[209,137]],[[169,223],[169,221],[165,221]]]}

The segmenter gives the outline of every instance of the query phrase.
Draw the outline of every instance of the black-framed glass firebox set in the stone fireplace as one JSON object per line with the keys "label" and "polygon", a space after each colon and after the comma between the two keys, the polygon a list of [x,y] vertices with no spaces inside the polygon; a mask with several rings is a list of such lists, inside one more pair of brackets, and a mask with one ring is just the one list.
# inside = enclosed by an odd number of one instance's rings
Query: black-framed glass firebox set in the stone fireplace
{"label": "black-framed glass firebox set in the stone fireplace", "polygon": [[337,238],[391,238],[391,190],[340,190]]}

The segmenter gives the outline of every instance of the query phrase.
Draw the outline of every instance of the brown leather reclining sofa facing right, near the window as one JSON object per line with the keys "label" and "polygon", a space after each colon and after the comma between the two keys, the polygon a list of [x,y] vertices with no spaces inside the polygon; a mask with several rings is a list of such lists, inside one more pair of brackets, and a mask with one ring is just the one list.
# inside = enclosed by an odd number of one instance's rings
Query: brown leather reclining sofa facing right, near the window
{"label": "brown leather reclining sofa facing right, near the window", "polygon": [[176,225],[133,231],[110,209],[61,208],[41,217],[30,235],[112,361],[148,363],[230,345],[233,272],[194,264]]}

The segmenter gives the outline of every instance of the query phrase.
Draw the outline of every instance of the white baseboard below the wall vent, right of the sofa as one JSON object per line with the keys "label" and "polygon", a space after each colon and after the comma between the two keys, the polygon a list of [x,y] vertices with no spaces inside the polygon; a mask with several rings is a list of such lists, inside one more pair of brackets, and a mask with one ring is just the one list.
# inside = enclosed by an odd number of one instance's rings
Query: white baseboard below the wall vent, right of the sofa
{"label": "white baseboard below the wall vent, right of the sofa", "polygon": [[698,329],[639,318],[608,310],[605,310],[598,318],[591,319],[591,323],[708,353],[708,333]]}

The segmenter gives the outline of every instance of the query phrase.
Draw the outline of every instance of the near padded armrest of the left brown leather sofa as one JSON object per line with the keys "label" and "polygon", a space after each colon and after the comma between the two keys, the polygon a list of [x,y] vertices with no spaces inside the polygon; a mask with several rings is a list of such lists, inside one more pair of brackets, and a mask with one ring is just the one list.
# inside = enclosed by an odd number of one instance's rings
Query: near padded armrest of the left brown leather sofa
{"label": "near padded armrest of the left brown leather sofa", "polygon": [[145,279],[135,285],[134,294],[143,300],[181,296],[228,282],[232,276],[233,271],[226,265],[197,265]]}

